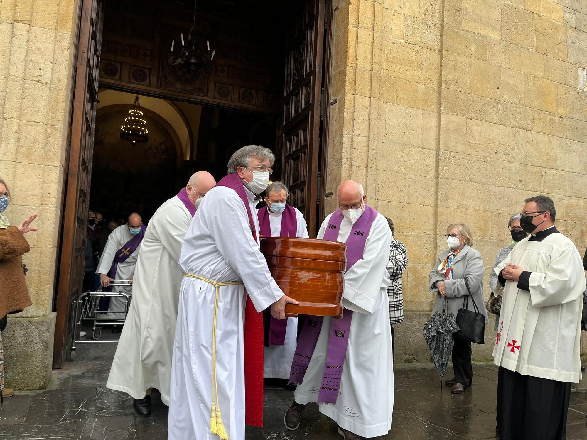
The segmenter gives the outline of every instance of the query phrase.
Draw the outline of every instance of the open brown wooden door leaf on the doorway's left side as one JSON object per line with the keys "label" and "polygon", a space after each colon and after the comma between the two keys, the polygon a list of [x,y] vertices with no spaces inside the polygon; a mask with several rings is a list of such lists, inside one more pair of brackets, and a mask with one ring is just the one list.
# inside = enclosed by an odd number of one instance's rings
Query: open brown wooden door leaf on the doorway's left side
{"label": "open brown wooden door leaf on the doorway's left side", "polygon": [[75,329],[73,325],[75,309],[72,303],[82,290],[94,123],[98,99],[103,2],[102,0],[81,1],[72,123],[66,164],[65,202],[59,248],[53,368],[61,368],[68,356]]}

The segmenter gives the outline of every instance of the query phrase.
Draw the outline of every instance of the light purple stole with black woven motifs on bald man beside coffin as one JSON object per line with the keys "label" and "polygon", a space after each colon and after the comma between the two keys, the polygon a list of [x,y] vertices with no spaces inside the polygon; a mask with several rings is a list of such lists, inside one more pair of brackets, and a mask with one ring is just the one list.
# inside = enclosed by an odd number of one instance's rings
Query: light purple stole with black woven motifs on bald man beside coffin
{"label": "light purple stole with black woven motifs on bald man beside coffin", "polygon": [[[371,231],[371,225],[376,217],[377,211],[367,205],[363,215],[353,225],[349,238],[346,241],[346,270],[352,268],[357,261],[363,258],[365,243]],[[342,219],[342,211],[338,209],[338,211],[335,211],[330,216],[328,228],[326,228],[323,239],[337,241]],[[318,403],[336,403],[340,388],[340,378],[342,377],[342,368],[345,363],[346,349],[349,343],[352,317],[352,310],[345,309],[343,317],[341,319],[333,319],[330,325],[328,352],[326,353],[326,365],[324,367],[324,374],[322,375],[322,384],[318,392]],[[310,360],[312,359],[312,354],[316,348],[316,343],[318,342],[323,319],[323,316],[306,317],[299,336],[298,346],[296,347],[289,383],[302,383]]]}

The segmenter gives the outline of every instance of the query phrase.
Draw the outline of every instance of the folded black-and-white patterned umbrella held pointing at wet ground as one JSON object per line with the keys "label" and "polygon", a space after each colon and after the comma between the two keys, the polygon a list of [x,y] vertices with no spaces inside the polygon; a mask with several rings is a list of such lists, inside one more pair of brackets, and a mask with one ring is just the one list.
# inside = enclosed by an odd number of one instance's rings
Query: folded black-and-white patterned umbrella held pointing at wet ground
{"label": "folded black-and-white patterned umbrella held pointing at wet ground", "polygon": [[453,333],[460,330],[457,326],[457,321],[454,319],[454,314],[446,313],[446,302],[445,298],[443,311],[435,312],[430,320],[424,324],[423,329],[424,340],[430,346],[432,360],[438,374],[440,374],[441,389],[444,375],[446,375],[446,368],[448,367],[448,359],[453,351]]}

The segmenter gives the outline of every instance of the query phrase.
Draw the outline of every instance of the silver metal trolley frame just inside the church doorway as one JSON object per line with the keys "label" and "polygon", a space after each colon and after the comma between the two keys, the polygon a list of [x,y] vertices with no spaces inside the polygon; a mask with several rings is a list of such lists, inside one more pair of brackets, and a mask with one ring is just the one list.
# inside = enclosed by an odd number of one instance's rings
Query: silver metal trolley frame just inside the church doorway
{"label": "silver metal trolley frame just inside the church doorway", "polygon": [[[127,287],[132,285],[133,280],[112,280],[110,282],[110,286],[113,287]],[[100,287],[100,289],[102,288],[103,287]],[[124,310],[121,312],[109,312],[108,310],[98,310],[100,299],[105,297],[123,297]],[[100,336],[102,336],[102,326],[124,325],[124,321],[126,321],[126,317],[129,314],[129,307],[132,298],[132,293],[123,293],[122,290],[119,290],[118,292],[102,292],[102,290],[99,290],[97,292],[84,292],[77,298],[77,300],[73,301],[72,306],[75,309],[75,319],[73,320],[73,343],[69,360],[72,362],[75,360],[76,344],[117,344],[118,340],[116,339],[104,341],[98,341],[97,339]],[[106,313],[118,313],[122,314],[123,316],[114,319],[100,317],[101,315]],[[93,341],[88,339],[75,339],[75,337],[79,334],[80,327],[82,326],[82,321],[93,321]]]}

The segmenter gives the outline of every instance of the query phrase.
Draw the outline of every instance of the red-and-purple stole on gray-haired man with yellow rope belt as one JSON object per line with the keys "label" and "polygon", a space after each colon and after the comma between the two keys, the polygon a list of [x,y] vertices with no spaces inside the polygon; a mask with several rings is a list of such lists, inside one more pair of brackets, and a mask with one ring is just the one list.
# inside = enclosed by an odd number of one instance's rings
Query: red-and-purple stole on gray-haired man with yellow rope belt
{"label": "red-and-purple stole on gray-haired man with yellow rope belt", "polygon": [[[237,173],[228,174],[216,185],[234,189],[247,209],[249,224],[255,242],[257,232],[249,207],[247,192]],[[245,424],[263,427],[263,314],[255,310],[247,295],[245,305]]]}

